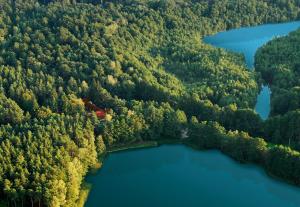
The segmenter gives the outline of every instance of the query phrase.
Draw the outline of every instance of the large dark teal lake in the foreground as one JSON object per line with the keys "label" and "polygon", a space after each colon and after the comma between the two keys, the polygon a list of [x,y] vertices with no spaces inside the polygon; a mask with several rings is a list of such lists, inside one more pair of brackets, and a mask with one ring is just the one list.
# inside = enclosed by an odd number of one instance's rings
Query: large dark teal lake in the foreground
{"label": "large dark teal lake in the foreground", "polygon": [[183,145],[112,153],[86,207],[299,207],[300,188],[218,151]]}

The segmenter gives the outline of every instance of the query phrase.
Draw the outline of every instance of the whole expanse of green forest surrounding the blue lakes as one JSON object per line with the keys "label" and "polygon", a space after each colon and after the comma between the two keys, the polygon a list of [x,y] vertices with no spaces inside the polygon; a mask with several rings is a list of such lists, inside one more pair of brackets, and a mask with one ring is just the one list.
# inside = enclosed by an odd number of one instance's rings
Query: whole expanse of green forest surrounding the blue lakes
{"label": "whole expanse of green forest surrounding the blue lakes", "polygon": [[[202,41],[297,19],[299,0],[0,0],[0,206],[83,206],[108,151],[164,140],[300,184],[299,32],[259,51],[258,72]],[[253,110],[262,82],[266,122]],[[298,137],[273,134],[281,122]]]}

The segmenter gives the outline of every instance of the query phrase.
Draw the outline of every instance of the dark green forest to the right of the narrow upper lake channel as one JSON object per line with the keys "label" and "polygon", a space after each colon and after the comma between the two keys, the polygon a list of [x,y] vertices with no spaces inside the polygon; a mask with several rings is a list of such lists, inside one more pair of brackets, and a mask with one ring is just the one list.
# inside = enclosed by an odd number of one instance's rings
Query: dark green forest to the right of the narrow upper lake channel
{"label": "dark green forest to the right of the narrow upper lake channel", "polygon": [[256,55],[256,69],[272,88],[269,141],[300,149],[300,29],[277,38]]}

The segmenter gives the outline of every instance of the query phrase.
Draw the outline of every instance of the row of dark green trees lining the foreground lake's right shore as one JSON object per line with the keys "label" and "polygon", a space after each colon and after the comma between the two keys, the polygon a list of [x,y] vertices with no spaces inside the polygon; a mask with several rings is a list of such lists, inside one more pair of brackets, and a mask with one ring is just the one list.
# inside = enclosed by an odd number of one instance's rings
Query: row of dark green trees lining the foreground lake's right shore
{"label": "row of dark green trees lining the foreground lake's right shore", "polygon": [[264,139],[245,132],[226,131],[218,123],[193,123],[190,127],[195,146],[219,149],[240,162],[260,164],[275,176],[300,184],[300,153],[282,145],[268,145]]}

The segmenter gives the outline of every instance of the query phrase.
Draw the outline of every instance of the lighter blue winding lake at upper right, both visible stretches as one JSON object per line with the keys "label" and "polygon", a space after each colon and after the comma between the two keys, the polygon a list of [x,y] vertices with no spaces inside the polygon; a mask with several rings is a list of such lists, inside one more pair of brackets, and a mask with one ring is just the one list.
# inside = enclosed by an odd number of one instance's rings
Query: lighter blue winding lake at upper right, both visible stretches
{"label": "lighter blue winding lake at upper right, both visible stretches", "polygon": [[[300,21],[283,24],[267,24],[256,27],[234,29],[220,32],[204,38],[206,43],[225,48],[234,52],[243,53],[249,69],[253,69],[254,56],[258,48],[275,37],[284,36],[300,27]],[[267,119],[270,113],[271,90],[262,86],[255,106],[256,112],[262,119]]]}

